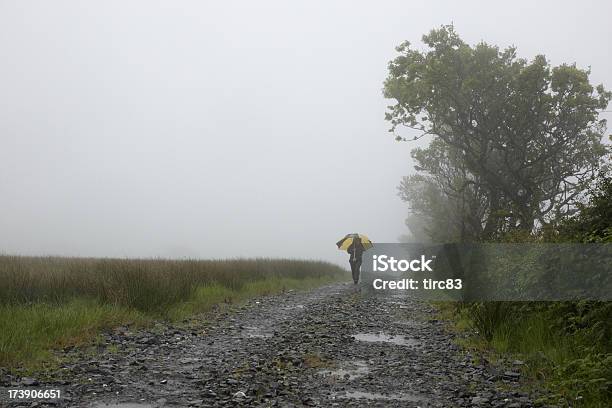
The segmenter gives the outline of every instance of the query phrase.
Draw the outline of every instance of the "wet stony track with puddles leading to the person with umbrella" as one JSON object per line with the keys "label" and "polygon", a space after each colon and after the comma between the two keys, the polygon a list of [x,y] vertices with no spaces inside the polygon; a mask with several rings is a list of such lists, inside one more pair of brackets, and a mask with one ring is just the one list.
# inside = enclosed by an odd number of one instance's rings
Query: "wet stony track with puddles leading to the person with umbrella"
{"label": "wet stony track with puddles leading to the person with umbrella", "polygon": [[[190,324],[118,328],[95,353],[65,351],[71,362],[37,387],[61,385],[69,407],[532,406],[518,369],[475,364],[433,312],[352,284],[288,292]],[[6,383],[24,381],[36,383]]]}

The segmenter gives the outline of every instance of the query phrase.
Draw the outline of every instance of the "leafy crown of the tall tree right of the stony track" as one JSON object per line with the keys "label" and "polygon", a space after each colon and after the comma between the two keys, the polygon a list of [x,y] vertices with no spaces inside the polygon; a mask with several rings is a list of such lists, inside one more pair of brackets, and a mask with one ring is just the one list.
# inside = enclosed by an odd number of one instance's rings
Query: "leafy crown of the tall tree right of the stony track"
{"label": "leafy crown of the tall tree right of the stony track", "polygon": [[591,85],[589,70],[551,67],[542,55],[527,61],[514,47],[470,46],[452,26],[423,42],[425,51],[397,47],[384,85],[396,138],[438,143],[413,153],[417,170],[454,205],[483,200],[472,214],[481,238],[571,212],[606,153],[599,111],[612,93]]}

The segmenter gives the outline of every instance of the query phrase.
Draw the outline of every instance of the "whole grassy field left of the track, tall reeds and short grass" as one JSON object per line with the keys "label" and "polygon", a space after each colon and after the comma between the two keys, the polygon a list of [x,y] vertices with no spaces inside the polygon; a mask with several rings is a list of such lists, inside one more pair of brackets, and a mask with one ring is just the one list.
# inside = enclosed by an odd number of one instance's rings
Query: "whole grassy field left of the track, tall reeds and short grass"
{"label": "whole grassy field left of the track, tall reeds and short grass", "polygon": [[181,320],[219,303],[345,278],[288,259],[162,260],[0,256],[0,367],[36,367],[50,350],[105,328]]}

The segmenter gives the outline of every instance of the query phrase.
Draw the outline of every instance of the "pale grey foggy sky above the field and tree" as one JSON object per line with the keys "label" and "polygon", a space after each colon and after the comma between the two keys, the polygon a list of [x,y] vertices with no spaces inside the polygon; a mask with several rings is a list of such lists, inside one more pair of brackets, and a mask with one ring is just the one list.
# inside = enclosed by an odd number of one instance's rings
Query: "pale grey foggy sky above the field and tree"
{"label": "pale grey foggy sky above the field and tree", "polygon": [[611,4],[0,0],[0,253],[345,262],[407,231],[396,45],[452,22],[612,88]]}

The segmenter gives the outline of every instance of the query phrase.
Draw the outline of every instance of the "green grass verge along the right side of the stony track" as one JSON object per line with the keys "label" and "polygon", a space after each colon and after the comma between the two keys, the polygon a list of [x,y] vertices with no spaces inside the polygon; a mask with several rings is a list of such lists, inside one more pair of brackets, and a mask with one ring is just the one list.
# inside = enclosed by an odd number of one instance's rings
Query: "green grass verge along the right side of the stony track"
{"label": "green grass verge along the right side of the stony track", "polygon": [[[562,331],[566,305],[488,302],[460,307],[438,303],[441,316],[462,333],[459,343],[495,362],[520,360],[525,387],[546,390],[542,403],[560,407],[612,406],[612,353],[586,326]],[[607,308],[609,305],[597,305]],[[608,323],[609,324],[609,323]],[[516,367],[515,367],[516,368]]]}

